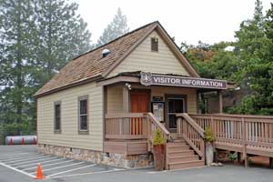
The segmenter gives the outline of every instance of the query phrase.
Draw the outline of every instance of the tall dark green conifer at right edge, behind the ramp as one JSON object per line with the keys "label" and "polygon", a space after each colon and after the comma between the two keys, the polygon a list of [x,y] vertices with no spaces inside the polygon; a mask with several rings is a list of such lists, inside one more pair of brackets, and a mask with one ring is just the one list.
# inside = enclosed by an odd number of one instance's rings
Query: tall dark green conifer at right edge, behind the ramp
{"label": "tall dark green conifer at right edge, behind the ramp", "polygon": [[234,109],[238,113],[273,114],[272,12],[271,4],[264,17],[261,2],[257,1],[253,19],[238,32],[238,56],[243,63],[241,80],[251,91]]}

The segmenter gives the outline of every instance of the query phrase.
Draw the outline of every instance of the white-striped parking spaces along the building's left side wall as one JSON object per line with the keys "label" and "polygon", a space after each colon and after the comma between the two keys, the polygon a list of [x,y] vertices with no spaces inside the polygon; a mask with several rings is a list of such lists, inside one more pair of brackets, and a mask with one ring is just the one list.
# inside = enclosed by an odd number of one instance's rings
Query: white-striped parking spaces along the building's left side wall
{"label": "white-striped parking spaces along the building's left side wall", "polygon": [[[6,167],[27,177],[35,178],[38,164],[40,164],[43,169],[45,179],[75,177],[96,173],[102,174],[125,170],[124,168],[107,167],[86,161],[39,154],[35,151],[35,146],[0,147],[0,166],[2,167]],[[6,177],[10,176],[8,175]],[[0,181],[2,182],[3,180]]]}

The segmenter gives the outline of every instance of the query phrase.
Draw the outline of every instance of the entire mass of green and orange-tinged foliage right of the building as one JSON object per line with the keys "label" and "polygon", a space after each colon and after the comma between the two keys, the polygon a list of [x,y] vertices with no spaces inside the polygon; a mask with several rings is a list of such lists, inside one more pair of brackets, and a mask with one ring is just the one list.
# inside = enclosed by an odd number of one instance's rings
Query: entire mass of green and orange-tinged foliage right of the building
{"label": "entire mass of green and orange-tinged foliage right of the building", "polygon": [[[187,45],[181,50],[200,76],[234,81],[245,97],[228,113],[273,115],[273,4],[263,15],[262,2],[255,3],[254,15],[240,24],[237,41]],[[234,50],[227,51],[227,46]],[[236,91],[234,91],[236,92]]]}

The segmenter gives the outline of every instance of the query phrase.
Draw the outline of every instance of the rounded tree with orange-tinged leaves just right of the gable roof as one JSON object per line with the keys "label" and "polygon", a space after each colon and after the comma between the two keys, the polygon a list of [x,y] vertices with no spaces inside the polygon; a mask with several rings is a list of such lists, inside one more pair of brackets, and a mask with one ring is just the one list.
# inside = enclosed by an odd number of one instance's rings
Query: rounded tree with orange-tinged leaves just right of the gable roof
{"label": "rounded tree with orange-tinged leaves just right of the gable roof", "polygon": [[238,72],[238,59],[233,52],[225,48],[231,43],[220,42],[215,45],[208,45],[199,41],[198,45],[181,44],[184,55],[197,69],[202,77],[236,80]]}

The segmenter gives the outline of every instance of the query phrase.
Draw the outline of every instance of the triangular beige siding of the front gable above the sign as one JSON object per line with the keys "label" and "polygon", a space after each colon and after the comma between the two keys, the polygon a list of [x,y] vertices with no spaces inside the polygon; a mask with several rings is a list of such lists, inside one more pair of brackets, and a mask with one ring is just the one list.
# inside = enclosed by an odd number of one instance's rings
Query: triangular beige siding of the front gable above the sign
{"label": "triangular beige siding of the front gable above the sign", "polygon": [[[155,36],[158,38],[158,52],[151,51],[151,37]],[[179,63],[177,57],[156,31],[148,35],[120,65],[116,66],[108,77],[132,71],[188,76],[186,69]]]}

